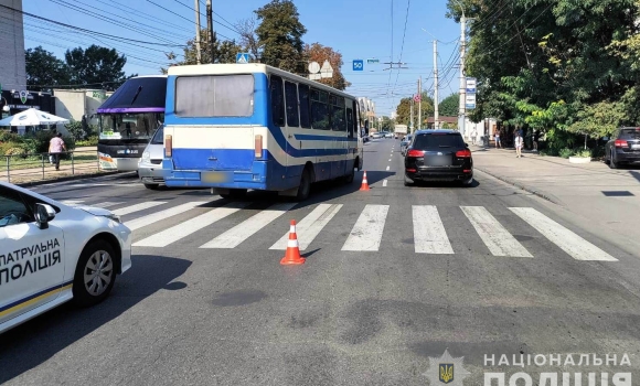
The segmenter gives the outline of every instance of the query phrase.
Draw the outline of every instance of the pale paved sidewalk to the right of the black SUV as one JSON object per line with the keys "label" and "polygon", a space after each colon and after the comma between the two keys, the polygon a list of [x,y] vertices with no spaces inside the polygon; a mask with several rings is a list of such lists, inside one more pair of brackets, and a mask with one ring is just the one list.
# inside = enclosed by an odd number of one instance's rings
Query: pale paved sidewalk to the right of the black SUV
{"label": "pale paved sidewalk to the right of the black SUV", "polygon": [[609,169],[593,161],[569,163],[559,157],[543,157],[515,150],[471,147],[477,171],[534,193],[593,224],[633,239],[640,238],[640,167]]}

